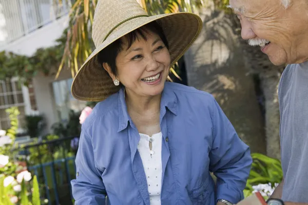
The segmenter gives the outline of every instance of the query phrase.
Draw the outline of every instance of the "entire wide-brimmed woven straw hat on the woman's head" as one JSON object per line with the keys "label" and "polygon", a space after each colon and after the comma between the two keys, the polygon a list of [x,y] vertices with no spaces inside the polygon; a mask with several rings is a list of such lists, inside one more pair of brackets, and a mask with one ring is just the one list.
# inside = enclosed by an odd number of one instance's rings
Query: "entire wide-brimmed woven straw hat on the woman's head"
{"label": "entire wide-brimmed woven straw hat on the woman's head", "polygon": [[194,42],[202,21],[192,13],[169,13],[148,16],[136,0],[99,0],[95,8],[92,39],[95,50],[76,74],[71,93],[83,101],[102,101],[120,89],[97,60],[97,54],[127,33],[157,21],[169,44],[171,66]]}

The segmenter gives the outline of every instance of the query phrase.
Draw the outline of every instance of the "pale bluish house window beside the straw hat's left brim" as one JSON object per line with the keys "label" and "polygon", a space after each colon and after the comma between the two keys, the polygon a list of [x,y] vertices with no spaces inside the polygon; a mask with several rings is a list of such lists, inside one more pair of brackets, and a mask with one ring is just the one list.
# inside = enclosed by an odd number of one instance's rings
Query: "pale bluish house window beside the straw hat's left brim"
{"label": "pale bluish house window beside the straw hat's left brim", "polygon": [[76,100],[71,95],[70,88],[72,82],[73,79],[70,78],[52,83],[53,96],[59,120],[68,120],[70,110],[78,112],[86,106],[86,102]]}

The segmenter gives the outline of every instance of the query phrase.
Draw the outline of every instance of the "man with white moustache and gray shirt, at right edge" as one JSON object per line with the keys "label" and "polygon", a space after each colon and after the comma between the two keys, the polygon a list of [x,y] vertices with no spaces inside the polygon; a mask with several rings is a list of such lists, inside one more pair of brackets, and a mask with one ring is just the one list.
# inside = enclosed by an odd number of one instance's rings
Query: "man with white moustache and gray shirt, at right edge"
{"label": "man with white moustache and gray shirt, at right edge", "polygon": [[275,65],[279,84],[283,180],[268,204],[308,204],[308,0],[229,0],[242,38]]}

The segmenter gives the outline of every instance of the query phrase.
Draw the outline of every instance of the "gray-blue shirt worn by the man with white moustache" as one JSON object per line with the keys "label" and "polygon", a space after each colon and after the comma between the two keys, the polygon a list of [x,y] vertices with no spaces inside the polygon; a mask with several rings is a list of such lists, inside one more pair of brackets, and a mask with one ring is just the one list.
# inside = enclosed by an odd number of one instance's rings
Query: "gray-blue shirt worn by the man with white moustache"
{"label": "gray-blue shirt worn by the man with white moustache", "polygon": [[288,65],[278,92],[282,200],[308,202],[308,62]]}

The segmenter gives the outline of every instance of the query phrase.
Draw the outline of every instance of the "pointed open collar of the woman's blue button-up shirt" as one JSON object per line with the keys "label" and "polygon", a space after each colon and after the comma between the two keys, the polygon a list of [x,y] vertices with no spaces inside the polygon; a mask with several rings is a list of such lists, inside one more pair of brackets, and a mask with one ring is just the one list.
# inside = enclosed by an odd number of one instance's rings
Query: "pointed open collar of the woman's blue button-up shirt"
{"label": "pointed open collar of the woman's blue button-up shirt", "polygon": [[[119,98],[118,98],[118,107],[119,107],[119,128],[118,132],[123,131],[128,125],[128,122],[131,120],[128,112],[127,112],[127,106],[126,101],[124,98],[124,87],[122,87],[119,90]],[[160,109],[160,115],[165,115],[166,108],[168,108],[171,113],[174,115],[177,115],[177,102],[178,99],[176,97],[176,94],[172,89],[169,87],[169,83],[165,83],[165,87],[162,92],[162,99],[161,99],[161,109]],[[161,116],[162,117],[162,116]]]}

